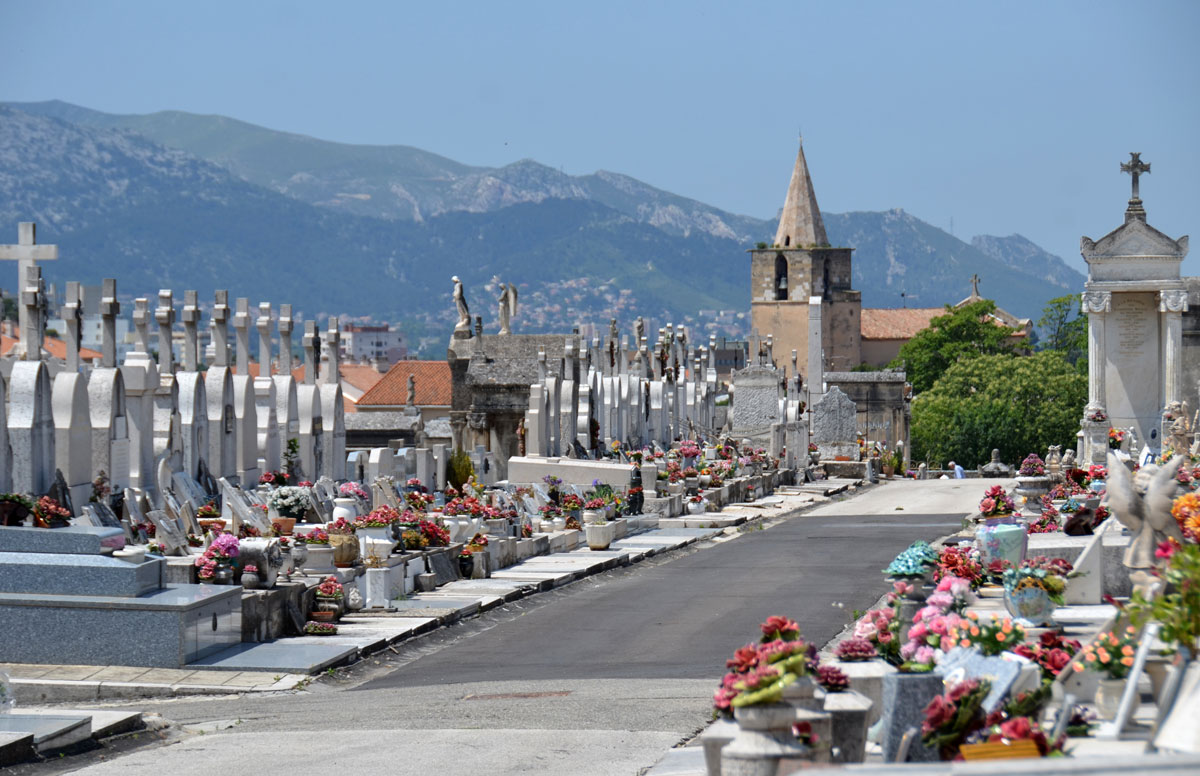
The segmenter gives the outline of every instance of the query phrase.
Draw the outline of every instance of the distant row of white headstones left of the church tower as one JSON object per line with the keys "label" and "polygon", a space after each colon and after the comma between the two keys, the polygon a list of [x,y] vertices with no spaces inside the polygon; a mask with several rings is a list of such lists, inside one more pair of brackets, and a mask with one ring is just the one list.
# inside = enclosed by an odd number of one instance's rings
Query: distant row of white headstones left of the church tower
{"label": "distant row of white headstones left of the church tower", "polygon": [[628,339],[620,337],[619,343],[616,330],[606,349],[598,337],[587,348],[569,336],[563,360],[553,366],[544,349],[538,351],[526,455],[584,457],[596,455],[598,447],[610,450],[614,441],[670,446],[680,437],[715,434],[715,342],[690,353],[690,369],[682,327],[678,335],[660,329],[653,351],[642,336],[632,363]]}

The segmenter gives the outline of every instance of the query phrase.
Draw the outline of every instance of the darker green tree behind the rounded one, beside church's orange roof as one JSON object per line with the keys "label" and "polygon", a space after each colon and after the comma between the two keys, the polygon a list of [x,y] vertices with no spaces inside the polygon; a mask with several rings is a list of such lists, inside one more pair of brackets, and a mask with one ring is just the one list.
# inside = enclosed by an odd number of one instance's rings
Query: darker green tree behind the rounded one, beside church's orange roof
{"label": "darker green tree behind the rounded one, beside church's orange roof", "polygon": [[997,325],[989,314],[996,302],[983,299],[959,308],[946,306],[946,314],[929,321],[929,329],[917,333],[900,348],[890,367],[901,367],[916,393],[934,387],[950,367],[966,359],[1012,353],[1013,329]]}

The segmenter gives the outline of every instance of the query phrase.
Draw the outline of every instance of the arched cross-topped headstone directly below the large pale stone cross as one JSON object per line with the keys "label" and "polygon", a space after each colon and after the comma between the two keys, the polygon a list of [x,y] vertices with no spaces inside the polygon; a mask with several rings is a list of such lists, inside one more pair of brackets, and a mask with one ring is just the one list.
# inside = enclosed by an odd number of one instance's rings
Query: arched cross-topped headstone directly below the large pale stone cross
{"label": "arched cross-topped headstone directly below the large pale stone cross", "polygon": [[8,441],[12,445],[12,487],[35,497],[46,493],[54,477],[54,414],[50,375],[40,359],[42,351],[42,278],[36,266],[26,267],[20,309],[26,317],[26,355],[12,365],[8,378]]}

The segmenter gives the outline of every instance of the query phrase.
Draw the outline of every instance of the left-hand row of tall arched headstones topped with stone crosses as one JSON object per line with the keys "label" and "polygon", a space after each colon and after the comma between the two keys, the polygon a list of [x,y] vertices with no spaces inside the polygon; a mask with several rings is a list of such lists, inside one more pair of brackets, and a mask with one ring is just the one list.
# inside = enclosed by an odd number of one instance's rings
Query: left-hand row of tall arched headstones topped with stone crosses
{"label": "left-hand row of tall arched headstones topped with stone crosses", "polygon": [[[41,267],[23,266],[22,347],[12,363],[7,393],[0,396],[0,489],[46,493],[61,471],[73,501],[90,495],[103,473],[114,489],[131,486],[155,495],[174,471],[198,479],[211,471],[254,483],[262,469],[278,469],[287,441],[299,444],[298,463],[307,477],[344,475],[346,426],[338,375],[338,324],[329,321],[324,342],[314,321],[304,335],[305,378],[289,368],[271,374],[271,330],[277,324],[280,363],[290,366],[290,305],[276,318],[259,305],[258,378],[250,377],[250,302],[239,299],[230,315],[228,291],[217,291],[210,319],[212,363],[200,372],[200,308],[196,291],[182,306],[184,363],[172,349],[175,308],[169,290],[134,301],[134,348],[116,363],[116,282],[104,279],[100,314],[98,366],[79,359],[80,289],[67,283],[62,317],[67,326],[65,366],[53,374],[43,361],[44,283]],[[228,324],[236,332],[236,372],[229,362]],[[151,356],[150,321],[157,324],[157,362]],[[319,361],[318,361],[319,353]],[[319,383],[318,383],[319,369]],[[0,386],[2,391],[2,386]]]}

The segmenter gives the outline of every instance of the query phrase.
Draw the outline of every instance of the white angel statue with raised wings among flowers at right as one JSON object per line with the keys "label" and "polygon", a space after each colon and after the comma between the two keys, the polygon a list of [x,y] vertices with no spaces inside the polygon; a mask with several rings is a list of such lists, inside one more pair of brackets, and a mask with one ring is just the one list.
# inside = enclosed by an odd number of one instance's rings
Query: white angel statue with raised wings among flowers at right
{"label": "white angel statue with raised wings among flowers at right", "polygon": [[1124,464],[1109,451],[1109,479],[1105,503],[1122,525],[1133,533],[1124,563],[1135,590],[1147,594],[1156,582],[1154,551],[1166,539],[1183,541],[1183,533],[1171,516],[1175,500],[1175,473],[1183,463],[1175,456],[1166,464],[1147,464],[1130,475]]}

